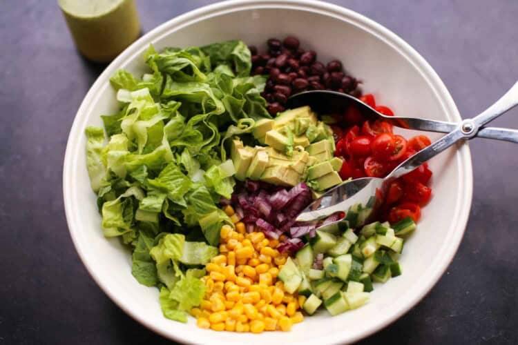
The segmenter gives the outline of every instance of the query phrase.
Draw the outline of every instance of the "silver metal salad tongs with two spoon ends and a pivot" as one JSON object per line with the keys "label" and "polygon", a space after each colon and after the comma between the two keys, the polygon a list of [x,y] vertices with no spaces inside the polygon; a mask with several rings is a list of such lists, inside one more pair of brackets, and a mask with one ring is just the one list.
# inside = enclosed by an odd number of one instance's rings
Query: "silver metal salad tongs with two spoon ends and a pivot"
{"label": "silver metal salad tongs with two spoon ends and a pivot", "polygon": [[[339,97],[336,97],[339,95]],[[296,221],[305,224],[314,225],[315,228],[323,226],[334,226],[342,221],[351,220],[347,217],[347,213],[354,210],[356,226],[358,224],[358,213],[361,211],[361,221],[370,220],[375,214],[377,208],[383,204],[387,190],[394,179],[407,174],[415,168],[421,166],[432,157],[439,155],[453,144],[462,140],[469,140],[474,137],[484,137],[489,139],[506,140],[518,142],[518,130],[510,130],[506,128],[488,128],[485,124],[496,119],[504,112],[518,105],[518,82],[515,83],[503,97],[496,101],[492,106],[481,112],[472,119],[464,119],[459,124],[443,121],[433,121],[427,119],[412,119],[407,117],[388,117],[381,115],[374,109],[365,105],[361,101],[357,101],[354,97],[340,94],[332,91],[309,91],[292,96],[289,106],[310,105],[313,110],[322,111],[323,108],[329,109],[327,102],[335,102],[334,106],[338,106],[338,100],[361,103],[363,111],[375,112],[378,117],[383,117],[384,121],[391,121],[394,126],[406,126],[406,128],[414,128],[421,130],[431,130],[434,132],[448,132],[447,135],[435,141],[430,146],[416,152],[414,155],[399,164],[385,178],[364,177],[361,179],[353,179],[345,181],[330,190],[322,197],[313,201],[305,210],[303,210]],[[297,102],[295,102],[297,100]],[[306,100],[303,102],[303,100]],[[350,103],[344,105],[348,106]],[[329,221],[328,217],[340,212],[345,212],[345,218]],[[338,217],[337,217],[338,218]],[[323,221],[323,219],[327,219]]]}

